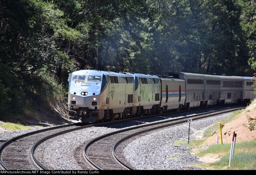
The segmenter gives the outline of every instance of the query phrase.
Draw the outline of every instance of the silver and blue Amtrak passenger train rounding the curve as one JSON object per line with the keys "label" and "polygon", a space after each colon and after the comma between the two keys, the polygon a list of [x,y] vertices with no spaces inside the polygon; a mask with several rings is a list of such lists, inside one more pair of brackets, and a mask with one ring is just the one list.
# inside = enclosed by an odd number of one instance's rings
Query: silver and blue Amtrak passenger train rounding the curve
{"label": "silver and blue Amtrak passenger train rounding the curve", "polygon": [[98,123],[188,108],[249,103],[252,77],[79,70],[69,75],[68,115]]}

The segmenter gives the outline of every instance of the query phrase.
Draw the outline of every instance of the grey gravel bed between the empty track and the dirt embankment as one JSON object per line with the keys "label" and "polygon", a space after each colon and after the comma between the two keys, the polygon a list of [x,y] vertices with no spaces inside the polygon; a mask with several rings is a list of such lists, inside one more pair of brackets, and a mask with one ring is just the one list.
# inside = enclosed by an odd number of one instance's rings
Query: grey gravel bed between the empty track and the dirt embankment
{"label": "grey gravel bed between the empty track and the dirt embankment", "polygon": [[[200,129],[228,118],[232,113],[195,120],[190,125],[190,139],[195,138]],[[186,144],[177,141],[188,141],[188,123],[168,127],[161,131],[143,136],[129,143],[124,154],[133,167],[140,170],[183,170],[198,169],[191,165],[199,163],[198,158],[189,153]]]}

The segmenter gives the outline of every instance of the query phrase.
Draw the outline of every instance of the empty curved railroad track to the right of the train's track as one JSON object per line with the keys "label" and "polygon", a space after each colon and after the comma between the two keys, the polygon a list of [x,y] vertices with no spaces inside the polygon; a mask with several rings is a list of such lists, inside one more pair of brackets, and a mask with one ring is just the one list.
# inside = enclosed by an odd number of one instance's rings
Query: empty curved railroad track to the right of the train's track
{"label": "empty curved railroad track to the right of the train's track", "polygon": [[[235,107],[232,109],[219,110],[215,112],[208,112],[197,114],[189,117],[181,117],[178,119],[165,120],[164,122],[157,122],[143,126],[136,126],[128,129],[111,132],[95,138],[87,143],[84,147],[84,157],[86,160],[99,170],[133,170],[134,168],[127,163],[123,155],[125,146],[134,139],[142,137],[149,131],[162,129],[164,127],[177,125],[187,122],[187,118],[198,120],[222,113],[235,111],[241,108]],[[155,132],[155,131],[154,131]]]}

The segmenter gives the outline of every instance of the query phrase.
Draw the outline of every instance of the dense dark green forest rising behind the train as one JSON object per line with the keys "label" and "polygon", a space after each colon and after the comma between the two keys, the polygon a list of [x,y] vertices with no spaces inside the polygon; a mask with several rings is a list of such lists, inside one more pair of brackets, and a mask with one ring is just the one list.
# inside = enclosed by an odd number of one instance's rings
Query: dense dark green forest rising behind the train
{"label": "dense dark green forest rising behind the train", "polygon": [[1,0],[0,119],[75,70],[251,76],[255,30],[255,0]]}

